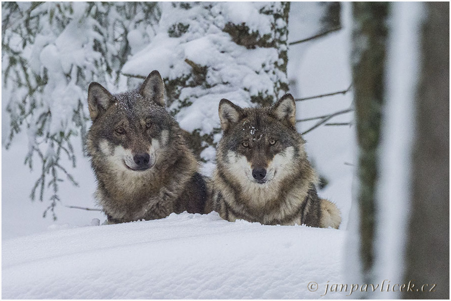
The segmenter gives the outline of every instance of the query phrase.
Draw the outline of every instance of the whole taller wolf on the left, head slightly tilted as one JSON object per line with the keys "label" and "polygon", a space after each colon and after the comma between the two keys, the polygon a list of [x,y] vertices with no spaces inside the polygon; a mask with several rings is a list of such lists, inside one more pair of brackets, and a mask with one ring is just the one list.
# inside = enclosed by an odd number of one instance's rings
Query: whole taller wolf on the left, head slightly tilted
{"label": "whole taller wolf on the left, head slightly tilted", "polygon": [[157,71],[139,89],[119,94],[93,82],[88,105],[93,124],[87,149],[108,223],[204,213],[206,184],[182,130],[164,108]]}

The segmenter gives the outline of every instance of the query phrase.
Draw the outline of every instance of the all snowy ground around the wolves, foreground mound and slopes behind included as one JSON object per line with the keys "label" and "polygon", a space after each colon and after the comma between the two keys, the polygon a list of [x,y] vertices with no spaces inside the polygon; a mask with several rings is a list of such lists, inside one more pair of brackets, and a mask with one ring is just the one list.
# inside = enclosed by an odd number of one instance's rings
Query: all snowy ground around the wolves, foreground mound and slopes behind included
{"label": "all snowy ground around the wolves, foreground mound and slopes behind included", "polygon": [[[299,13],[302,19],[309,15],[309,10]],[[305,38],[301,33],[299,28],[290,27],[289,40]],[[299,90],[290,91],[295,97],[335,92],[349,86],[344,34],[337,32],[292,46],[288,73],[299,84]],[[298,102],[297,117],[347,109],[351,99],[350,92]],[[351,114],[331,120],[351,121]],[[299,124],[298,130],[304,131],[315,122]],[[58,221],[53,222],[50,217],[42,219],[47,205],[31,203],[29,199],[39,170],[30,173],[23,165],[26,140],[19,138],[10,151],[2,150],[1,297],[322,298],[328,281],[330,284],[344,281],[343,248],[351,204],[353,135],[349,126],[322,126],[305,135],[309,157],[329,181],[319,194],[336,202],[342,212],[339,230],[229,223],[215,213],[91,226],[92,219],[103,222],[105,217],[100,212],[64,207],[95,206],[94,176],[88,159],[81,155],[80,143],[74,145],[78,161],[77,168],[72,169],[80,187],[62,183],[62,204],[56,208]],[[309,291],[309,284],[314,289],[311,282],[318,284],[317,291]],[[346,295],[328,293],[324,298],[348,298]]]}

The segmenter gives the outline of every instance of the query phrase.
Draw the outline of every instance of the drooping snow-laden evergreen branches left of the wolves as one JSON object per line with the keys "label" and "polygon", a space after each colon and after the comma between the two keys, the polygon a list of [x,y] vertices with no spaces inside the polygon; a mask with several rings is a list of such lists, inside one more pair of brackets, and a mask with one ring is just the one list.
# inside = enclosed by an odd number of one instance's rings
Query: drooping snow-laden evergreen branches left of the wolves
{"label": "drooping snow-laden evergreen branches left of the wolves", "polygon": [[75,167],[71,141],[86,133],[88,84],[117,82],[131,48],[153,36],[157,15],[155,2],[2,2],[2,144],[8,149],[26,130],[25,163],[42,163],[31,199],[52,191],[44,217],[50,210],[56,219],[61,175],[77,185],[61,156]]}

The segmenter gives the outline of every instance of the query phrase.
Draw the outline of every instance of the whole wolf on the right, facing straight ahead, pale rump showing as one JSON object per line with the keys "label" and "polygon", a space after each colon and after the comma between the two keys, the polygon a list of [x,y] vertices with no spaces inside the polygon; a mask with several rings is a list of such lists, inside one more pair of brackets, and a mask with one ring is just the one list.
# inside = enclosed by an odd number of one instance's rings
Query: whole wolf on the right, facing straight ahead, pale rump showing
{"label": "whole wolf on the right, facing straight ahead, pale rump showing", "polygon": [[210,206],[223,219],[338,228],[338,208],[317,195],[318,176],[296,131],[295,115],[290,94],[263,108],[241,108],[221,100],[223,137]]}

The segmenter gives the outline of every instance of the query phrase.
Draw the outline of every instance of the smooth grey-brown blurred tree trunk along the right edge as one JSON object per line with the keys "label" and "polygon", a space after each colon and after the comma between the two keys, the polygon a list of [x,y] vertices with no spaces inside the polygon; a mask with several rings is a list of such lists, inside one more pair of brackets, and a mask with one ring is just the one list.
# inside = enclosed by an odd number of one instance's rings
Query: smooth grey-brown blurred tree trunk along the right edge
{"label": "smooth grey-brown blurred tree trunk along the right edge", "polygon": [[450,3],[426,2],[425,5],[428,15],[421,33],[412,215],[405,273],[405,282],[412,281],[415,287],[402,297],[449,299]]}

